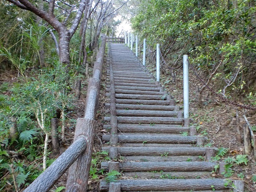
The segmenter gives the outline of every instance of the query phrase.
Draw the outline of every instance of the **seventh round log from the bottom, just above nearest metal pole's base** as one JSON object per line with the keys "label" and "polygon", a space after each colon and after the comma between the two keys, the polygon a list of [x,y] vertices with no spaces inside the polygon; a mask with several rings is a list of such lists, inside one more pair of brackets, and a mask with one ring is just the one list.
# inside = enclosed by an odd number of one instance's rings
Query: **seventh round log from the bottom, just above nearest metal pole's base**
{"label": "seventh round log from the bottom, just above nearest metal pole's base", "polygon": [[177,117],[177,111],[156,111],[156,110],[116,110],[117,116],[154,116],[154,117]]}

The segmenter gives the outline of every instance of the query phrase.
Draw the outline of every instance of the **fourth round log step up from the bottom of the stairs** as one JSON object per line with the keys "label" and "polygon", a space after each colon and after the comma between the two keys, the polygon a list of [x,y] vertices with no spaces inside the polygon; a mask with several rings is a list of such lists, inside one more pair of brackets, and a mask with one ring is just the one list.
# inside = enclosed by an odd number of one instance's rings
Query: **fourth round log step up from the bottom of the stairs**
{"label": "fourth round log step up from the bottom of the stairs", "polygon": [[[102,135],[102,141],[109,142],[110,135]],[[164,143],[195,144],[196,136],[118,135],[120,143]]]}

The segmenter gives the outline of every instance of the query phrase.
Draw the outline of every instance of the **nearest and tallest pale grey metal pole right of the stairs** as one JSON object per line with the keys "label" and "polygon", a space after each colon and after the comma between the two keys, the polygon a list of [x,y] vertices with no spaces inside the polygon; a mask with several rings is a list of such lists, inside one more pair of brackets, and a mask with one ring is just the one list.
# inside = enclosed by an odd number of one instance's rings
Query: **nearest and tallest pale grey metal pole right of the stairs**
{"label": "nearest and tallest pale grey metal pole right of the stairs", "polygon": [[184,118],[189,117],[188,55],[183,56],[183,102]]}

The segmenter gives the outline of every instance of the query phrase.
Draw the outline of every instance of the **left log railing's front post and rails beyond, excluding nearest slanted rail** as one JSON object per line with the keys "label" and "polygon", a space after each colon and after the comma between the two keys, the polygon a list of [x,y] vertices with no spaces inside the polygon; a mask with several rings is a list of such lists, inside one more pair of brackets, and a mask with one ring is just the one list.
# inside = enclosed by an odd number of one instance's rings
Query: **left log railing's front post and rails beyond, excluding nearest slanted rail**
{"label": "left log railing's front post and rails beyond, excluding nearest slanted rail", "polygon": [[82,153],[81,156],[76,160],[76,162],[70,166],[66,184],[66,192],[87,191],[96,127],[95,117],[98,106],[98,98],[100,95],[100,81],[102,76],[105,46],[106,35],[103,34],[102,44],[99,48],[96,62],[94,62],[93,76],[92,78],[89,78],[88,81],[84,118],[78,119],[74,135],[74,140],[76,140],[76,138],[81,134],[85,135],[88,139],[88,147],[84,153]]}

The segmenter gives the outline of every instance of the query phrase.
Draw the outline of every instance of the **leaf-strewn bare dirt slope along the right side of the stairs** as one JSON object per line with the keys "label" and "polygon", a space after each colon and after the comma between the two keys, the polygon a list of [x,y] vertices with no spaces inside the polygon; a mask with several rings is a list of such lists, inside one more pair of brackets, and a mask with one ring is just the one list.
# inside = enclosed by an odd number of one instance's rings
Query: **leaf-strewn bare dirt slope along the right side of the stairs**
{"label": "leaf-strewn bare dirt slope along the right side of the stairs", "polygon": [[[141,57],[142,54],[139,54],[139,56]],[[154,64],[149,64],[148,59],[146,59],[146,66],[148,70],[156,76],[155,62]],[[176,85],[172,84],[172,76],[170,72],[167,72],[167,74],[160,74],[160,83],[172,96],[174,96],[176,105],[183,107],[183,69],[180,68],[175,72]],[[200,84],[200,82],[198,82],[196,76],[192,74],[192,71],[190,71],[189,79],[190,118],[193,118],[194,120],[192,125],[196,126],[198,135],[208,137],[208,141],[204,147],[219,148],[218,153],[220,152],[220,154],[215,156],[212,160],[227,162],[225,173],[223,173],[224,175],[213,173],[212,177],[244,180],[246,191],[255,192],[256,162],[251,157],[244,155],[244,144],[239,142],[236,128],[236,107],[222,103],[208,90],[205,90],[204,95],[202,96],[202,107],[198,107],[195,102],[195,87]],[[256,114],[251,113],[249,115],[248,118],[255,134]],[[242,115],[240,115],[239,120],[241,130],[241,125],[245,123]],[[225,152],[225,155],[221,156],[223,152]],[[198,158],[202,161],[205,160],[203,156],[199,156]]]}

